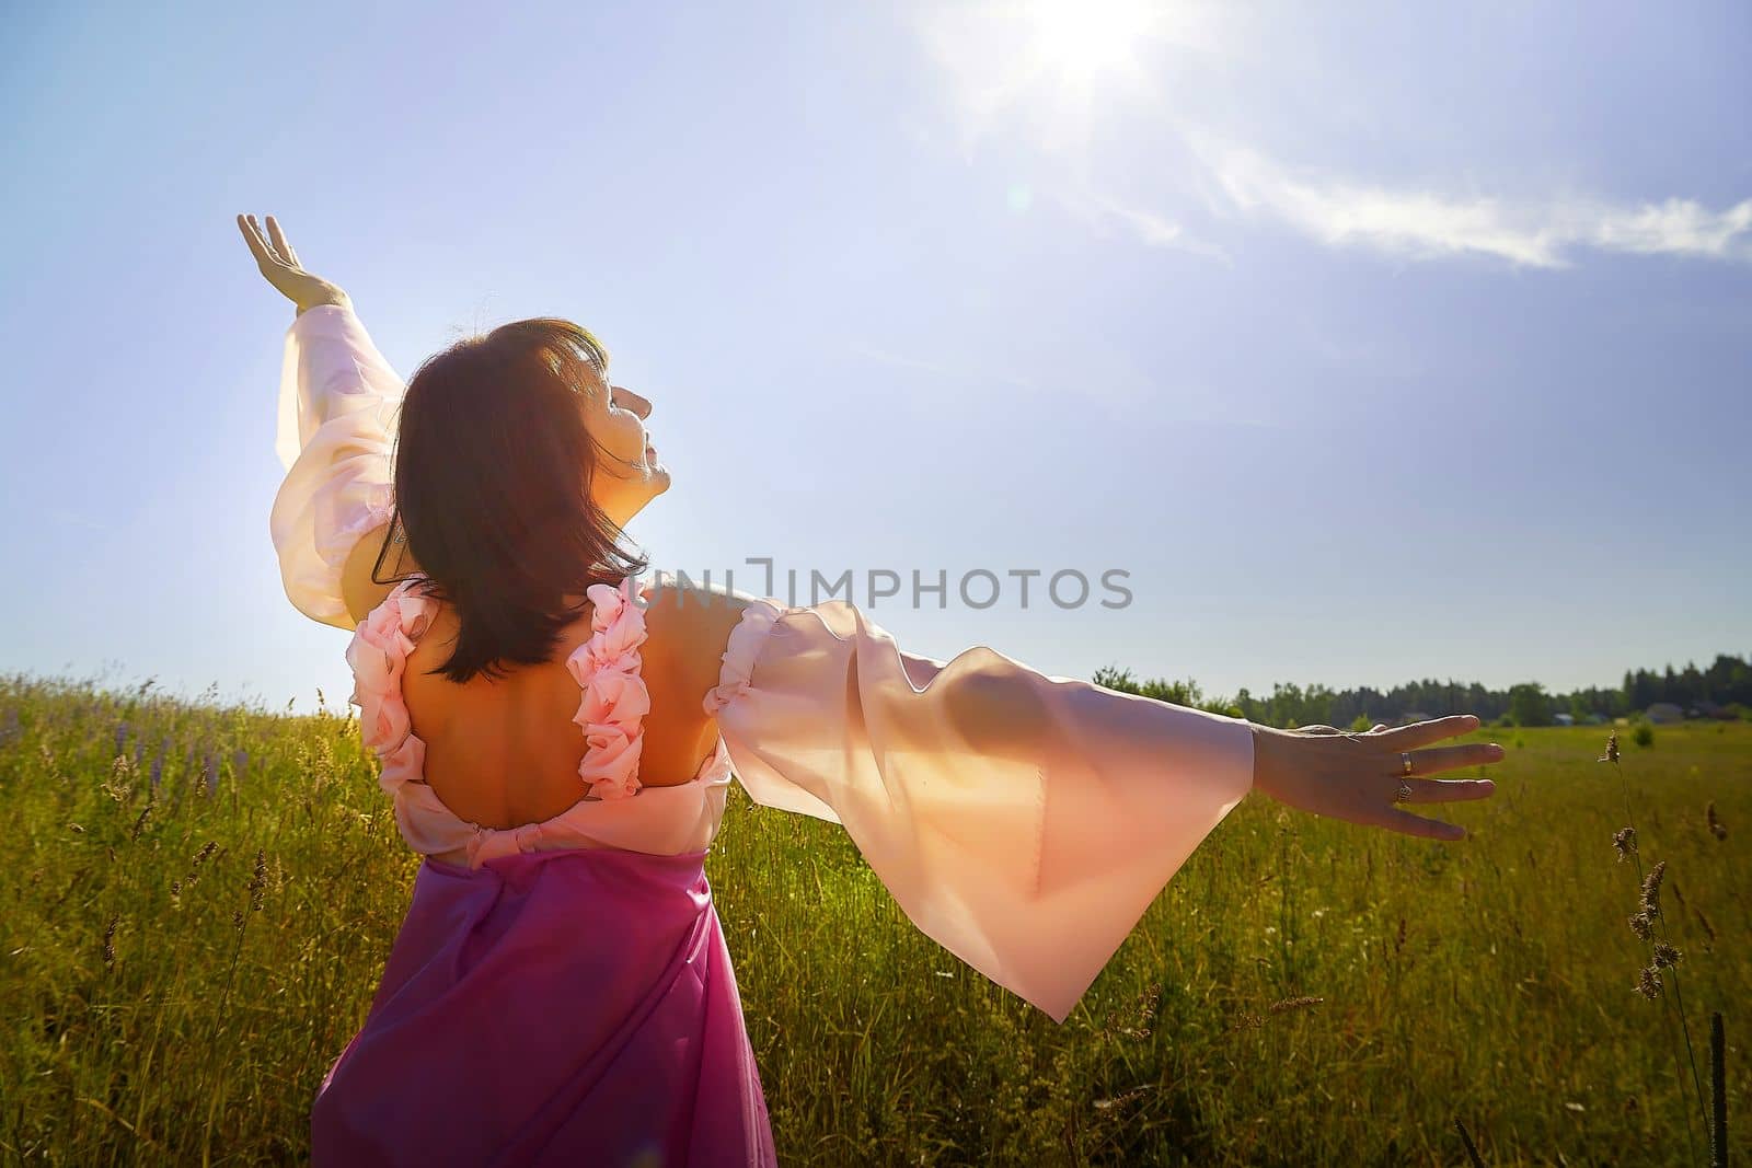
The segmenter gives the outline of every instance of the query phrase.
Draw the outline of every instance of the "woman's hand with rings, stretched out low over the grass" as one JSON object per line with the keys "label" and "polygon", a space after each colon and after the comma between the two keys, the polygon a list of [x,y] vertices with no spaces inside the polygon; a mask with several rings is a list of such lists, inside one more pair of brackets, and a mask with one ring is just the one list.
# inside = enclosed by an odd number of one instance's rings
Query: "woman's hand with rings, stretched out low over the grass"
{"label": "woman's hand with rings, stretched out low over the grass", "polygon": [[1407,777],[1402,760],[1402,755],[1412,760],[1412,776],[1500,762],[1503,748],[1494,742],[1431,746],[1477,728],[1473,714],[1416,721],[1396,730],[1375,725],[1367,734],[1323,725],[1274,730],[1254,723],[1253,785],[1300,811],[1424,839],[1466,839],[1459,825],[1426,820],[1393,804],[1400,799],[1400,783],[1410,788],[1405,800],[1410,804],[1489,799],[1496,792],[1489,779]]}

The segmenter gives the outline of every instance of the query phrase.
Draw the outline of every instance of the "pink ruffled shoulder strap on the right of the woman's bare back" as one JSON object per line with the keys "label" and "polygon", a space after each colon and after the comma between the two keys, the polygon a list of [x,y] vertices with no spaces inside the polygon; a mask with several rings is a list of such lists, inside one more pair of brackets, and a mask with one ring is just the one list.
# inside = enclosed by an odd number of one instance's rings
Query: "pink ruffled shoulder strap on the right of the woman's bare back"
{"label": "pink ruffled shoulder strap on the right of the woman's bare back", "polygon": [[650,690],[639,676],[645,613],[632,599],[632,578],[618,587],[590,585],[590,627],[596,630],[566,658],[583,697],[573,714],[589,748],[578,777],[601,800],[631,799],[639,792],[639,751]]}

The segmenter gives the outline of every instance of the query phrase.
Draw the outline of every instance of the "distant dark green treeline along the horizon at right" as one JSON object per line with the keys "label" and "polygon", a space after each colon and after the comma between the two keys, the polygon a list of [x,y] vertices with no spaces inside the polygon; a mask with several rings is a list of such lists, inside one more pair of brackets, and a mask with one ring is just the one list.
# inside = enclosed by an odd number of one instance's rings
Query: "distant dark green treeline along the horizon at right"
{"label": "distant dark green treeline along the horizon at right", "polygon": [[1325,685],[1300,686],[1293,681],[1272,685],[1270,697],[1256,697],[1242,688],[1235,697],[1207,697],[1193,679],[1139,681],[1130,669],[1104,667],[1093,681],[1111,690],[1142,693],[1176,706],[1195,706],[1246,718],[1270,727],[1332,725],[1349,727],[1384,721],[1396,725],[1405,714],[1479,714],[1486,721],[1508,718],[1515,725],[1551,725],[1556,714],[1572,714],[1587,721],[1640,714],[1656,702],[1671,702],[1680,709],[1733,709],[1752,716],[1752,660],[1717,653],[1708,669],[1687,664],[1684,671],[1671,665],[1664,672],[1631,669],[1624,683],[1610,690],[1587,688],[1572,693],[1547,693],[1538,681],[1522,681],[1507,690],[1487,690],[1477,681],[1409,681],[1386,693],[1368,686],[1358,690],[1330,690]]}

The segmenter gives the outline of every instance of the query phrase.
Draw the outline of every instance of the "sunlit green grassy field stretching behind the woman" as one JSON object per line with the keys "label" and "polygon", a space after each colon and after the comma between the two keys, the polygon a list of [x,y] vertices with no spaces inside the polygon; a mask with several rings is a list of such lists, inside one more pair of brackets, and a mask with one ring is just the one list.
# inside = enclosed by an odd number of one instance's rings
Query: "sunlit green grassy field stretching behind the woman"
{"label": "sunlit green grassy field stretching behind the woman", "polygon": [[[1752,723],[1624,735],[1684,953],[1659,1000],[1605,730],[1472,737],[1508,758],[1437,809],[1470,841],[1253,795],[1063,1026],[918,933],[836,825],[732,788],[706,872],[780,1163],[1458,1164],[1454,1117],[1489,1164],[1706,1163],[1673,993],[1705,1091],[1726,1014],[1752,1129]],[[14,676],[0,739],[0,1156],[303,1159],[417,867],[356,721]]]}

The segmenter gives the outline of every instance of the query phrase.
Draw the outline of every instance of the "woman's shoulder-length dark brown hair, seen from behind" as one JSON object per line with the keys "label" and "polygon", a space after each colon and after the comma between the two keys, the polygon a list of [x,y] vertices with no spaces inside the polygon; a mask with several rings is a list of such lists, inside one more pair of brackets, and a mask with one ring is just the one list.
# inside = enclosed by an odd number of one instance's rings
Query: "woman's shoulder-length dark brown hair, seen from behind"
{"label": "woman's shoulder-length dark brown hair, seen from behind", "polygon": [[378,580],[403,532],[429,581],[415,592],[454,604],[456,650],[438,669],[464,683],[501,662],[552,658],[587,608],[592,583],[618,583],[648,560],[622,550],[620,527],[590,499],[610,457],[585,426],[585,396],[606,392],[608,352],[569,320],[503,324],[429,357],[401,399],[396,517],[371,567]]}

